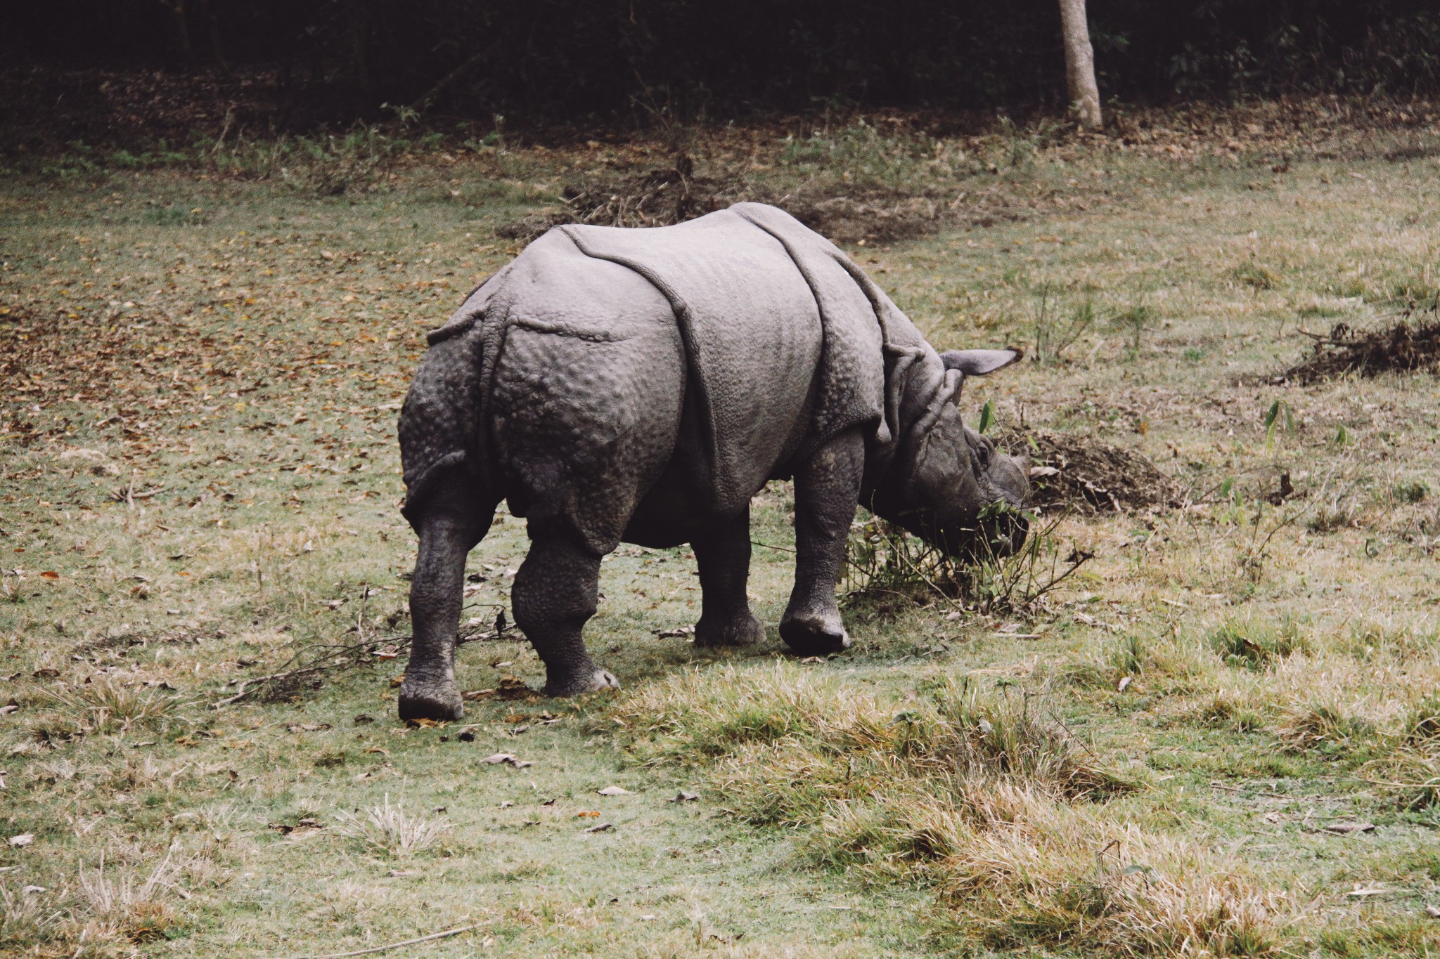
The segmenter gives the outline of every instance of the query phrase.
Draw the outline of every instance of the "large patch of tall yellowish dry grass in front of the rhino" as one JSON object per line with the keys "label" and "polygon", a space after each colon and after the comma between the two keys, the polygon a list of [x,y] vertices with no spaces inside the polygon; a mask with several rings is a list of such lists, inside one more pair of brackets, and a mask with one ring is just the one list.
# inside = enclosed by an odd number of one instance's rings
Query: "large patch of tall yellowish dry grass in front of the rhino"
{"label": "large patch of tall yellowish dry grass in front of the rhino", "polygon": [[1022,693],[896,702],[779,664],[675,676],[619,716],[642,758],[710,758],[733,814],[805,830],[819,863],[933,883],[994,949],[1269,955],[1302,909],[1112,808],[1135,784]]}

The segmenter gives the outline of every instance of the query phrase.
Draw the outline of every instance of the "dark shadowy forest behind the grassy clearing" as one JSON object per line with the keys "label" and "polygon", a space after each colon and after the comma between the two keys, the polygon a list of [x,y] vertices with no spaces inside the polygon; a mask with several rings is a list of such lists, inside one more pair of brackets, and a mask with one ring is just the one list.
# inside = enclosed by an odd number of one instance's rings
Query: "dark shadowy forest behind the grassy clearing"
{"label": "dark shadowy forest behind the grassy clearing", "polygon": [[[513,128],[1064,108],[1056,0],[46,0],[7,19],[10,121],[141,70],[264,88],[288,132],[400,108]],[[1440,91],[1437,0],[1092,0],[1090,23],[1106,99]]]}

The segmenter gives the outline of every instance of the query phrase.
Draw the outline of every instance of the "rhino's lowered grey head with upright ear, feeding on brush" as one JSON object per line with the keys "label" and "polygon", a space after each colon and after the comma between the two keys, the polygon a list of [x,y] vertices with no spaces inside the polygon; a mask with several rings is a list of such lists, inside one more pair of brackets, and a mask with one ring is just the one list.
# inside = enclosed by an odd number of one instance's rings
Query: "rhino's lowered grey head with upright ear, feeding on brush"
{"label": "rhino's lowered grey head with upright ear, feeding on brush", "polygon": [[[1018,349],[958,349],[940,354],[940,359],[948,371],[982,377],[1021,355]],[[955,403],[943,401],[932,413],[876,490],[876,512],[950,555],[1018,549],[1028,531],[1021,510],[1030,497],[1030,463],[1002,453],[965,426]]]}

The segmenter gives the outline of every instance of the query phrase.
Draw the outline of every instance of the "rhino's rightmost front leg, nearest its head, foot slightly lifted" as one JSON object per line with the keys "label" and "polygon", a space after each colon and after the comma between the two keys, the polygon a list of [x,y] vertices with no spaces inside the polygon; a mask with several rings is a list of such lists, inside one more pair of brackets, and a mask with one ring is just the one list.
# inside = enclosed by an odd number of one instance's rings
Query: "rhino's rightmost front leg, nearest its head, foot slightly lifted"
{"label": "rhino's rightmost front leg, nearest its head, foot slightly lifted", "polygon": [[855,518],[865,469],[864,437],[852,430],[822,446],[795,470],[795,589],[780,638],[796,653],[822,656],[850,646],[835,581]]}

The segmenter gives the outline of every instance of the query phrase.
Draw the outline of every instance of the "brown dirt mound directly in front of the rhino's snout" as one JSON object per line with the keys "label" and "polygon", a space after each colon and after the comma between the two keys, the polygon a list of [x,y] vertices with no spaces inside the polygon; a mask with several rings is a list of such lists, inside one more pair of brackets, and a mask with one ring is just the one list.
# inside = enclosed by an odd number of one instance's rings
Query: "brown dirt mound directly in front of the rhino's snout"
{"label": "brown dirt mound directly in front of the rhino's snout", "polygon": [[1031,503],[1080,513],[1153,510],[1179,503],[1175,482],[1148,457],[1066,433],[1014,433],[1011,450],[1030,454]]}

